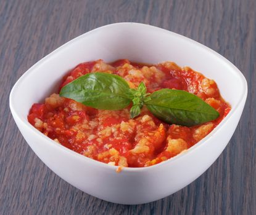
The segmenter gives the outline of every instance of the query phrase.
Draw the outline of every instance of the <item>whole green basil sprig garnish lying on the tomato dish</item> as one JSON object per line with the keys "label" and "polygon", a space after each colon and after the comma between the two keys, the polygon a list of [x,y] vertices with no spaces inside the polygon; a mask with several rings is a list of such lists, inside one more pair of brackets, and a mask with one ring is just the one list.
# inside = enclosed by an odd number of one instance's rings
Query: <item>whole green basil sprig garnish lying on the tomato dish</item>
{"label": "whole green basil sprig garnish lying on the tomato dish", "polygon": [[212,106],[186,91],[162,89],[150,94],[143,82],[133,89],[122,77],[102,72],[73,80],[60,90],[60,96],[105,110],[120,110],[133,103],[131,118],[138,116],[145,104],[163,122],[184,126],[199,125],[219,116]]}

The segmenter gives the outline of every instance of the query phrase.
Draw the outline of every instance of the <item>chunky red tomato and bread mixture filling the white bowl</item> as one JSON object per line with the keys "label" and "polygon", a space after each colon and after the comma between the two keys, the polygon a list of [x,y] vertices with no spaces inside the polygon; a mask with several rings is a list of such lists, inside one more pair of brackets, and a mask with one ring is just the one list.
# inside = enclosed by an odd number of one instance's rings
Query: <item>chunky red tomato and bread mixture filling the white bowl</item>
{"label": "chunky red tomato and bread mixture filling the white bowl", "polygon": [[123,77],[131,88],[144,82],[152,93],[161,88],[186,90],[210,104],[220,117],[194,127],[168,125],[146,108],[130,119],[130,107],[105,111],[87,107],[54,93],[43,104],[33,104],[28,122],[44,135],[86,157],[115,166],[142,167],[163,162],[207,136],[231,110],[217,84],[191,68],[166,61],[157,65],[117,60],[80,63],[63,77],[59,89],[89,72]]}

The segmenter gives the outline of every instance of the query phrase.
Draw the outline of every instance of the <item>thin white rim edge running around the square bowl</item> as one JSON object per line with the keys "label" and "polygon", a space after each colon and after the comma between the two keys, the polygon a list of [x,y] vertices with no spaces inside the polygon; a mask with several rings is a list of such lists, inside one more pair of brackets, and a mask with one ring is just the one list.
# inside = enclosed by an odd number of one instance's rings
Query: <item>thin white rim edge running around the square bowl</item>
{"label": "thin white rim edge running around the square bowl", "polygon": [[180,37],[180,39],[184,40],[184,41],[188,41],[194,45],[197,45],[198,47],[200,47],[201,49],[205,49],[206,51],[212,53],[213,55],[215,55],[215,57],[217,57],[219,60],[224,61],[225,64],[232,70],[235,72],[235,74],[239,77],[239,79],[242,81],[242,94],[240,96],[240,98],[237,100],[237,104],[231,108],[231,111],[229,112],[228,115],[226,115],[226,117],[217,125],[217,127],[215,127],[213,129],[213,131],[211,131],[209,133],[209,135],[205,136],[205,138],[203,138],[202,140],[200,140],[199,142],[197,142],[194,146],[190,147],[189,149],[187,149],[186,151],[181,152],[180,154],[176,155],[175,157],[169,158],[168,160],[165,160],[163,162],[157,163],[155,165],[152,166],[145,166],[145,167],[123,167],[122,168],[122,172],[138,172],[138,171],[149,171],[151,169],[154,168],[159,168],[160,166],[165,166],[168,165],[169,163],[173,163],[176,160],[179,160],[181,157],[184,157],[187,154],[191,154],[192,152],[194,152],[196,149],[199,149],[199,147],[202,147],[203,144],[207,141],[209,141],[209,139],[211,139],[215,133],[217,133],[221,127],[223,127],[223,124],[228,123],[227,121],[234,115],[234,112],[237,111],[237,106],[241,105],[242,101],[246,100],[247,97],[247,81],[246,78],[243,76],[242,72],[239,71],[239,69],[236,68],[236,66],[233,65],[233,63],[231,63],[229,60],[227,60],[225,57],[223,57],[222,55],[220,55],[219,53],[215,52],[214,50],[210,49],[209,47],[200,44],[199,42],[196,42],[186,36],[183,36],[181,34],[177,34],[174,33],[172,31],[168,31],[167,29],[163,29],[163,28],[159,28],[157,26],[152,26],[152,25],[147,25],[144,23],[134,23],[134,22],[120,22],[120,23],[112,23],[109,25],[104,25],[104,26],[100,26],[99,28],[95,28],[92,29],[91,31],[88,31],[86,33],[81,34],[80,36],[77,36],[73,39],[71,39],[70,41],[66,42],[65,44],[61,45],[60,47],[58,47],[57,49],[55,49],[54,51],[52,51],[51,53],[47,54],[45,57],[43,57],[41,60],[37,61],[35,63],[35,65],[31,66],[31,68],[29,68],[26,72],[24,72],[22,74],[22,76],[17,80],[17,82],[15,82],[14,86],[12,87],[12,90],[10,92],[10,96],[9,96],[9,106],[10,106],[10,111],[12,112],[12,115],[14,115],[15,119],[19,120],[20,123],[25,127],[27,127],[27,129],[33,131],[33,135],[38,135],[39,138],[43,138],[45,139],[45,141],[50,144],[51,147],[57,147],[57,149],[63,150],[65,152],[67,152],[70,155],[75,156],[77,159],[81,160],[81,162],[89,162],[89,164],[92,165],[96,165],[98,167],[102,166],[104,168],[109,168],[110,170],[116,170],[118,168],[118,166],[110,166],[107,163],[103,163],[103,162],[99,162],[97,160],[94,160],[93,158],[89,158],[86,157],[84,155],[78,154],[75,151],[72,151],[71,149],[68,149],[65,146],[62,146],[61,144],[56,143],[54,140],[52,140],[51,138],[48,138],[47,136],[43,135],[43,133],[41,133],[40,131],[38,131],[35,127],[33,127],[30,123],[24,122],[20,116],[17,114],[17,112],[15,111],[15,106],[14,106],[14,95],[15,92],[17,91],[17,87],[19,87],[20,83],[25,81],[26,77],[29,76],[31,74],[31,72],[35,71],[35,69],[40,66],[42,63],[44,63],[45,61],[47,61],[50,57],[52,57],[52,55],[55,55],[55,53],[60,52],[62,49],[67,48],[68,46],[72,45],[73,42],[76,42],[80,39],[83,39],[83,37],[88,36],[88,34],[92,34],[92,33],[96,33],[97,31],[101,31],[104,28],[109,28],[112,26],[121,26],[121,25],[127,25],[129,27],[133,26],[133,25],[140,25],[141,28],[151,28],[151,29],[155,29],[158,31],[162,31],[168,34],[173,34],[173,36],[175,37]]}

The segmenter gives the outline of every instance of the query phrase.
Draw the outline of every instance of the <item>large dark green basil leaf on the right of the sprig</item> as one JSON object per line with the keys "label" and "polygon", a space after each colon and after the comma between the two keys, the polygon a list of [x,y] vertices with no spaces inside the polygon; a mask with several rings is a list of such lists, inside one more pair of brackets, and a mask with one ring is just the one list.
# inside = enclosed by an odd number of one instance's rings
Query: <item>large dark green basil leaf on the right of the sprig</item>
{"label": "large dark green basil leaf on the right of the sprig", "polygon": [[144,101],[147,109],[167,123],[192,126],[209,122],[219,116],[212,106],[183,90],[162,89],[149,97],[151,100]]}

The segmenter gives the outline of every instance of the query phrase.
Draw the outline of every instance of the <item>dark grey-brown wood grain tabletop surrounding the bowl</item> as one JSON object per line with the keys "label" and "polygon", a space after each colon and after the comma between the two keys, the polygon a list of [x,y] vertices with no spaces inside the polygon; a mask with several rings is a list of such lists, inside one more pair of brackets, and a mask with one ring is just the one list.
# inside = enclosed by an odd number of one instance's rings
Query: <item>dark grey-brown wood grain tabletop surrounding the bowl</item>
{"label": "dark grey-brown wood grain tabletop surrounding the bowl", "polygon": [[[207,45],[234,63],[249,87],[218,160],[189,186],[144,205],[108,203],[60,179],[28,147],[9,110],[9,92],[28,68],[70,39],[115,22],[148,23]],[[0,0],[0,214],[256,214],[255,44],[255,0]]]}

